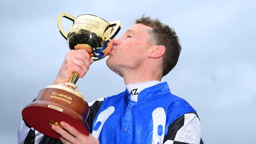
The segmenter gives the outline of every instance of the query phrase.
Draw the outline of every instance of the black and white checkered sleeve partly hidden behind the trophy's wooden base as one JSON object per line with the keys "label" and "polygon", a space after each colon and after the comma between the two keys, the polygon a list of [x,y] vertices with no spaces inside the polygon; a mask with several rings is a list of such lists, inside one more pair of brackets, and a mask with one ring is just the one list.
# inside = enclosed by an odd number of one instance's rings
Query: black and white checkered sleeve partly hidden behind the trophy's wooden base
{"label": "black and white checkered sleeve partly hidden behind the trophy's wooden base", "polygon": [[[92,125],[96,114],[98,113],[101,104],[105,98],[100,98],[89,104],[90,113],[87,118],[90,132],[92,131]],[[35,101],[35,100],[34,100]],[[43,135],[39,131],[29,126],[23,119],[20,122],[18,131],[18,144],[62,144],[60,140]]]}

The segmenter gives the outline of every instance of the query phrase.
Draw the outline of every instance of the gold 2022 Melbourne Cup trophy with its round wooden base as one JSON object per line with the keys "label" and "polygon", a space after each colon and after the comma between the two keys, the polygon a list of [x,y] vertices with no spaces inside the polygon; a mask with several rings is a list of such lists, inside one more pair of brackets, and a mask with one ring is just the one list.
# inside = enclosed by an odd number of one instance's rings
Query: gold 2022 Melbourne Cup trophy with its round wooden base
{"label": "gold 2022 Melbourne Cup trophy with its round wooden base", "polygon": [[[73,21],[68,33],[61,25],[63,17]],[[74,17],[68,13],[60,13],[58,17],[59,31],[67,39],[70,50],[74,50],[77,44],[83,44],[91,48],[91,58],[94,61],[108,55],[113,43],[110,41],[121,27],[119,20],[107,22],[103,18],[89,14]],[[60,135],[53,131],[51,126],[61,127],[61,121],[69,123],[84,135],[89,135],[86,119],[90,109],[75,85],[78,78],[78,74],[73,72],[69,82],[64,85],[50,85],[40,90],[35,101],[22,110],[24,121],[44,135],[56,139],[59,139]]]}

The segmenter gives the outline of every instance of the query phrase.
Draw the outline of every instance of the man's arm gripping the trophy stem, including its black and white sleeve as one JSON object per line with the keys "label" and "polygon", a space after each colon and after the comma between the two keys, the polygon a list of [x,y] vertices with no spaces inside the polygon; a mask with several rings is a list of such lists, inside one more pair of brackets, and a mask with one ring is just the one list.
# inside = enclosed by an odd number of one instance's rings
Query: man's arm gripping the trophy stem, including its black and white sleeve
{"label": "man's arm gripping the trophy stem, including its black and white sleeve", "polygon": [[[89,70],[89,66],[93,63],[91,49],[83,45],[77,45],[75,49],[67,52],[58,77],[53,83],[54,85],[68,82],[72,72],[77,72],[80,78],[82,78]],[[24,120],[21,121],[18,132],[18,144],[45,144],[51,142],[52,144],[61,144],[59,140],[47,137],[26,124]]]}

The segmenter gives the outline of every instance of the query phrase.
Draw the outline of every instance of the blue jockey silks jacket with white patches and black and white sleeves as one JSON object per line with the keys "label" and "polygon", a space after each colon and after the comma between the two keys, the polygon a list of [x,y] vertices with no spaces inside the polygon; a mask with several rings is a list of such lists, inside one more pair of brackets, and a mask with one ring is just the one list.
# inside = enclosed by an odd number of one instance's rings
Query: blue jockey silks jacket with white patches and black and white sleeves
{"label": "blue jockey silks jacket with white patches and black and white sleeves", "polygon": [[[196,111],[171,94],[166,82],[139,92],[137,102],[126,91],[89,103],[87,118],[100,144],[203,144]],[[18,143],[61,143],[22,121]]]}

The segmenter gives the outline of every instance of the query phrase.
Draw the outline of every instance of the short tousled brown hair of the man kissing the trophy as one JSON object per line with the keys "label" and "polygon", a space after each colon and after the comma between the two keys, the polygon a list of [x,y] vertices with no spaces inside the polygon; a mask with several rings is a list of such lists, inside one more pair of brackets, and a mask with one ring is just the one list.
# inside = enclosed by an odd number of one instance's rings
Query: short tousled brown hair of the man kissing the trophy
{"label": "short tousled brown hair of the man kissing the trophy", "polygon": [[145,15],[137,19],[135,24],[143,24],[152,28],[152,30],[148,31],[149,44],[165,46],[166,50],[161,63],[162,77],[167,75],[177,64],[181,51],[180,41],[175,30],[161,23],[158,18],[151,19],[150,17],[145,17]]}

